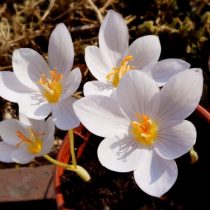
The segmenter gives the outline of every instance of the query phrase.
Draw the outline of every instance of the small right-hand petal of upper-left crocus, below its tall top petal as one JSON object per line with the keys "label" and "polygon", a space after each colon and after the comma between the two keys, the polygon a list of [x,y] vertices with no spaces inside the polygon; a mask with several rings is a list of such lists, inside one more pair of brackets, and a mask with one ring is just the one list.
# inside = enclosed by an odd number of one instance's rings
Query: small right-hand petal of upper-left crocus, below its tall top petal
{"label": "small right-hand petal of upper-left crocus, below its tall top petal", "polygon": [[70,73],[64,74],[62,80],[63,95],[61,100],[68,98],[76,92],[82,80],[82,74],[79,68],[75,68]]}

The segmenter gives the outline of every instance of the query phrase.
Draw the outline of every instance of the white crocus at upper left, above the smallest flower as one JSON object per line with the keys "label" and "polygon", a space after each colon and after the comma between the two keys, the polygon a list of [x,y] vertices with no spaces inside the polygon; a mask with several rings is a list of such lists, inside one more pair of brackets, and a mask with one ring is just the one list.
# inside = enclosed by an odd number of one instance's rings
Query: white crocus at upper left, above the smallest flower
{"label": "white crocus at upper left, above the smallest flower", "polygon": [[13,53],[13,72],[0,72],[0,95],[17,102],[19,111],[32,119],[44,119],[52,112],[55,125],[63,130],[77,127],[72,97],[81,82],[79,68],[72,71],[73,43],[64,24],[56,26],[48,47],[48,64],[29,48]]}

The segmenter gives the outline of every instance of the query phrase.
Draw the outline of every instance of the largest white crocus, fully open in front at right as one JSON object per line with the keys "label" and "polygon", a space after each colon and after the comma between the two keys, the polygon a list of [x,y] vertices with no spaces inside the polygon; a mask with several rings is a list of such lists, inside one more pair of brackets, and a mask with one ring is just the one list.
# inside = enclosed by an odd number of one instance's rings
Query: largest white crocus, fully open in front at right
{"label": "largest white crocus, fully open in front at right", "polygon": [[195,127],[184,119],[198,105],[202,87],[200,69],[178,73],[161,90],[151,77],[131,71],[120,81],[115,99],[87,96],[75,102],[74,110],[87,129],[105,137],[98,148],[101,164],[134,171],[138,186],[159,197],[177,178],[174,159],[195,144]]}

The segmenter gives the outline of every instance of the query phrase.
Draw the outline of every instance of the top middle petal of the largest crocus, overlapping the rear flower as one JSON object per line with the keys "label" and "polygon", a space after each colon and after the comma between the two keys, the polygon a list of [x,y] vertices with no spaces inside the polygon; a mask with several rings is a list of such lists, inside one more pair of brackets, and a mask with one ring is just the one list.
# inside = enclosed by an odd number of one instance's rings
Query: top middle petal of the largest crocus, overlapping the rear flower
{"label": "top middle petal of the largest crocus, overlapping the rear flower", "polygon": [[131,119],[135,119],[136,113],[151,114],[154,112],[152,106],[159,107],[158,103],[150,104],[152,98],[158,93],[159,88],[152,78],[138,70],[133,70],[121,79],[116,97],[125,113]]}

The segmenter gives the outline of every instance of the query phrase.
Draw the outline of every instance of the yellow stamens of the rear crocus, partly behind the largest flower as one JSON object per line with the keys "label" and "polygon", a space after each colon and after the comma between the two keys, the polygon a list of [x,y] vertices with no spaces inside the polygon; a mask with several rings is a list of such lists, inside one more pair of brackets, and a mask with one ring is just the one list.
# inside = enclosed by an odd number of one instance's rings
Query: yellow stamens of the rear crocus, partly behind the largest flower
{"label": "yellow stamens of the rear crocus, partly behind the largest flower", "polygon": [[125,73],[135,68],[134,66],[128,65],[131,60],[133,60],[132,55],[125,56],[121,61],[121,65],[119,67],[112,68],[112,70],[106,75],[106,79],[112,82],[114,87],[118,86]]}

